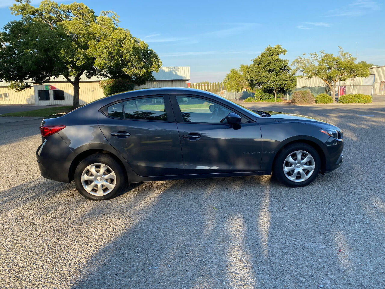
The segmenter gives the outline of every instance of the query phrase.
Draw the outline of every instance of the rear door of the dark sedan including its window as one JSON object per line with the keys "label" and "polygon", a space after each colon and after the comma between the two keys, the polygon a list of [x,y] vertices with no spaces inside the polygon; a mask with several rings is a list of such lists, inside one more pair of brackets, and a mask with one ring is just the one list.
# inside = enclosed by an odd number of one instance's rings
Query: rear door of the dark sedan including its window
{"label": "rear door of the dark sedan including its window", "polygon": [[181,144],[168,95],[109,105],[99,111],[98,124],[138,175],[183,174]]}

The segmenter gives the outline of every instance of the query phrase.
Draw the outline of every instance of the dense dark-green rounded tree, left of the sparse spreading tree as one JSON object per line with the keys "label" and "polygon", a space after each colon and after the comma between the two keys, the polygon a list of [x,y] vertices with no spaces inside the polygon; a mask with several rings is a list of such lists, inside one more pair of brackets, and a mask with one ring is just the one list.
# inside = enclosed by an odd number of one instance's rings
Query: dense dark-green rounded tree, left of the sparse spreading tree
{"label": "dense dark-green rounded tree, left of the sparse spreading tree", "polygon": [[264,91],[274,93],[275,101],[277,93],[293,89],[295,77],[288,64],[288,60],[281,59],[280,55],[286,54],[286,49],[281,45],[266,47],[246,70],[246,79],[250,87],[261,87]]}

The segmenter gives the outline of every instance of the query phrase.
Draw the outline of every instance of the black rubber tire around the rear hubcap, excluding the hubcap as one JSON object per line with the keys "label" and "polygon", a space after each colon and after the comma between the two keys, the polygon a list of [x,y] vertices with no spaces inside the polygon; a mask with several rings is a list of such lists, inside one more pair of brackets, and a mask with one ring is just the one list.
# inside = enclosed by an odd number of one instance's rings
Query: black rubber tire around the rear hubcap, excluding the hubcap
{"label": "black rubber tire around the rear hubcap, excluding the hubcap", "polygon": [[[115,176],[116,176],[115,187],[111,190],[111,192],[105,195],[100,195],[100,196],[93,195],[87,192],[82,185],[81,178],[82,178],[83,171],[85,170],[85,168],[87,168],[87,166],[92,165],[94,163],[105,164],[109,166],[112,169],[112,171],[114,171],[115,173]],[[74,182],[77,190],[87,199],[107,200],[114,197],[114,195],[116,195],[117,193],[121,192],[122,188],[126,183],[126,173],[122,168],[122,166],[112,156],[103,154],[103,153],[96,153],[94,155],[87,156],[87,158],[85,158],[79,163],[79,165],[76,167],[76,170],[75,170]]]}

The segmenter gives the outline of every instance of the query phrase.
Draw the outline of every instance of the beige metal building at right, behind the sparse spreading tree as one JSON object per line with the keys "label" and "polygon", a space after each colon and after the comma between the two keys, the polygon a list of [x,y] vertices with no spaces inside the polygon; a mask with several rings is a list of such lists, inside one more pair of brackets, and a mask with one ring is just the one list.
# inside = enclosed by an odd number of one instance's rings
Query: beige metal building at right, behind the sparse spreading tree
{"label": "beige metal building at right, behind the sparse spreading tree", "polygon": [[[337,82],[338,87],[345,87],[346,94],[363,93],[375,97],[385,95],[385,66],[369,68],[368,77],[356,77],[347,81]],[[326,84],[318,77],[297,77],[297,88],[325,87]]]}

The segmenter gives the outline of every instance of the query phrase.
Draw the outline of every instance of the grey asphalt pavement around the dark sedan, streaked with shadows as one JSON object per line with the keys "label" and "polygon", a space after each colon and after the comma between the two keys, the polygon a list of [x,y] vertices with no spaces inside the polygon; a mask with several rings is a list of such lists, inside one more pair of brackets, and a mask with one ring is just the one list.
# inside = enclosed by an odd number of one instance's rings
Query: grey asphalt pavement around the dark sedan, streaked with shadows
{"label": "grey asphalt pavement around the dark sedan, streaked with shadows", "polygon": [[385,287],[385,105],[247,105],[337,124],[345,162],[305,188],[154,181],[92,202],[39,175],[39,120],[2,124],[0,287]]}

